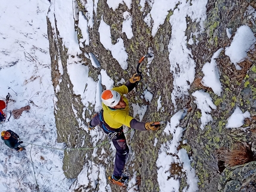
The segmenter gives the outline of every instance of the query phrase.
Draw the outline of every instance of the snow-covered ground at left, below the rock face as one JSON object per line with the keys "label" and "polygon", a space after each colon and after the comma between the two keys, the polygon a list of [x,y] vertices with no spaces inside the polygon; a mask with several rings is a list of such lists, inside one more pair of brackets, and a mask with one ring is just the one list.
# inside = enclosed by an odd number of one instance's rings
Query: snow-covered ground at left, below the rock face
{"label": "snow-covered ground at left, below the rock face", "polygon": [[[23,112],[19,119],[11,117],[9,122],[0,124],[1,131],[10,129],[17,133],[27,149],[16,152],[1,140],[1,191],[33,192],[38,185],[40,191],[64,192],[73,182],[65,178],[62,169],[64,145],[57,143],[46,29],[49,6],[48,1],[1,2],[1,99],[9,92],[11,99],[16,100],[8,104],[8,111],[30,105],[29,112]],[[74,28],[67,30],[70,29]],[[66,45],[73,47],[71,43]]]}

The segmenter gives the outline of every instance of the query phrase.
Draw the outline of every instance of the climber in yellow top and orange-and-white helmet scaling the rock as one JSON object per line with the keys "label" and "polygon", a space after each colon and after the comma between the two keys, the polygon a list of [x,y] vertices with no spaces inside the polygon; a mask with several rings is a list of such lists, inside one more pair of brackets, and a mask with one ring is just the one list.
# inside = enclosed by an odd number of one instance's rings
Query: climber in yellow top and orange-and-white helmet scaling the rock
{"label": "climber in yellow top and orange-and-white helmet scaling the rock", "polygon": [[102,110],[95,114],[88,123],[89,129],[99,125],[112,140],[117,152],[115,153],[114,172],[113,175],[108,177],[108,180],[122,187],[126,187],[129,179],[123,175],[124,164],[129,153],[129,147],[123,133],[123,125],[140,131],[156,131],[160,127],[160,125],[152,125],[154,122],[139,122],[129,115],[129,104],[124,94],[133,90],[140,80],[141,75],[134,74],[126,84],[102,92]]}

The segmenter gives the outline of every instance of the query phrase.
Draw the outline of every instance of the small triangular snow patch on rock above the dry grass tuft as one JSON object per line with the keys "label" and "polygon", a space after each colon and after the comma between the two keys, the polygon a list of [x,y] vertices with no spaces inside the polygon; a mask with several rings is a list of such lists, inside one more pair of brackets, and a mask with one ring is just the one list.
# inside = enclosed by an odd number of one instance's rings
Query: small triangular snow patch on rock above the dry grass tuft
{"label": "small triangular snow patch on rock above the dry grass tuft", "polygon": [[250,118],[251,115],[248,111],[242,112],[237,106],[233,114],[227,119],[226,128],[238,128],[244,123],[245,118]]}

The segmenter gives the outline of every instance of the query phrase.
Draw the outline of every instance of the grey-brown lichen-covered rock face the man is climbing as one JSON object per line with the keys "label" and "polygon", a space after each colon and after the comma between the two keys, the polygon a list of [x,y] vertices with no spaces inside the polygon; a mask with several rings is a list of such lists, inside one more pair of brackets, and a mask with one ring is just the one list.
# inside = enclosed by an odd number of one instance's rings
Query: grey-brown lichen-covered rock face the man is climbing
{"label": "grey-brown lichen-covered rock face the man is climbing", "polygon": [[[77,3],[79,11],[86,15],[86,9],[83,7],[82,0],[74,1]],[[136,72],[136,64],[142,55],[148,53],[149,49],[154,51],[154,60],[149,68],[141,65],[143,74],[150,70],[150,78],[145,75],[138,87],[136,93],[132,92],[128,95],[130,103],[140,103],[140,105],[147,105],[147,111],[143,117],[143,121],[157,121],[158,119],[169,119],[172,115],[179,111],[179,109],[189,109],[186,117],[180,122],[180,126],[186,128],[183,140],[188,143],[181,145],[185,148],[189,155],[192,156],[192,166],[196,170],[196,175],[199,178],[199,191],[216,192],[218,191],[254,191],[255,189],[255,162],[241,165],[238,167],[228,168],[220,174],[218,170],[218,159],[216,158],[216,149],[221,147],[232,148],[233,144],[238,141],[251,143],[254,146],[255,139],[255,117],[256,117],[256,52],[251,49],[248,52],[248,59],[241,62],[239,65],[242,70],[236,70],[235,65],[225,55],[224,49],[216,59],[218,71],[220,71],[220,81],[222,85],[221,96],[214,94],[213,90],[201,84],[201,79],[204,77],[202,67],[205,63],[210,62],[213,54],[220,48],[230,46],[236,30],[243,25],[249,26],[256,35],[255,17],[250,12],[246,11],[250,7],[252,10],[256,8],[254,1],[230,1],[230,0],[209,0],[207,3],[207,19],[205,20],[205,30],[198,37],[193,37],[194,42],[188,44],[191,50],[193,59],[195,60],[195,80],[190,84],[189,95],[184,98],[176,99],[176,108],[171,101],[171,92],[173,91],[173,75],[171,75],[170,60],[168,52],[168,42],[171,39],[171,25],[169,19],[173,11],[169,11],[166,21],[160,26],[154,37],[151,35],[151,29],[143,21],[145,15],[140,11],[138,1],[132,1],[132,8],[129,10],[125,4],[120,4],[117,10],[108,8],[107,1],[98,1],[97,15],[94,15],[93,28],[89,29],[90,46],[80,46],[83,53],[93,53],[97,55],[96,59],[101,64],[101,69],[107,71],[108,75],[117,82],[124,78],[128,80],[129,77]],[[122,32],[121,23],[123,22],[123,12],[130,11],[133,16],[133,38],[127,39],[125,33]],[[148,5],[145,6],[145,11],[150,11]],[[111,26],[111,40],[112,43],[117,43],[118,38],[121,37],[124,41],[126,52],[129,55],[127,59],[127,70],[123,70],[118,62],[113,58],[111,52],[104,48],[100,42],[99,37],[99,21],[104,15],[105,23]],[[191,18],[187,20],[187,37],[191,37],[192,32],[199,30],[199,24],[192,22]],[[82,119],[86,124],[86,118],[91,118],[94,114],[94,106],[89,105],[86,111],[84,103],[81,102],[80,95],[75,95],[73,92],[73,85],[67,74],[67,48],[63,45],[62,39],[58,34],[54,34],[51,28],[52,24],[48,20],[48,38],[51,52],[52,63],[52,81],[54,85],[55,95],[58,99],[55,108],[55,119],[58,129],[58,141],[65,142],[67,147],[93,147],[92,137],[88,131],[80,128],[77,117]],[[231,29],[232,36],[227,37],[226,29]],[[82,39],[81,30],[75,26],[77,30],[77,38]],[[56,30],[58,33],[58,29]],[[187,39],[187,42],[189,39]],[[191,45],[192,44],[192,45]],[[100,74],[99,68],[92,66],[90,59],[85,54],[79,55],[83,58],[83,65],[89,66],[89,76],[94,80],[98,79]],[[180,55],[182,56],[182,55]],[[60,73],[59,60],[63,65],[63,73]],[[179,69],[176,69],[179,70]],[[60,81],[61,79],[61,81]],[[57,91],[58,89],[58,91]],[[145,90],[153,93],[154,97],[150,105],[146,102],[143,95]],[[211,112],[213,121],[208,123],[204,130],[201,130],[201,115],[202,112],[197,108],[192,94],[196,90],[202,90],[208,93],[213,98],[213,103],[216,109]],[[157,112],[157,99],[161,96],[164,111]],[[136,100],[135,100],[136,98]],[[227,119],[235,111],[236,106],[242,112],[248,111],[251,118],[245,121],[242,128],[227,129]],[[76,115],[74,110],[77,111]],[[83,114],[84,113],[84,114]],[[133,112],[130,112],[133,114]],[[161,115],[161,117],[160,117]],[[163,120],[164,120],[163,119]],[[152,147],[155,138],[158,143]],[[129,141],[130,135],[127,135]],[[138,177],[141,183],[138,186],[139,191],[159,191],[157,182],[157,166],[155,162],[158,158],[158,150],[161,143],[166,140],[171,140],[171,136],[163,136],[161,131],[157,133],[147,133],[136,131],[132,142],[129,145],[136,154],[127,162],[127,171],[138,172]],[[143,142],[142,142],[143,141]],[[100,142],[99,142],[100,143]],[[149,147],[151,146],[151,147]],[[63,160],[63,169],[65,176],[68,178],[77,178],[77,175],[82,171],[83,166],[88,162],[88,158],[92,153],[98,154],[95,162],[104,164],[107,169],[107,174],[112,173],[113,155],[110,151],[110,144],[105,143],[100,146],[105,150],[105,154],[101,155],[101,150],[70,150],[65,152]],[[102,160],[104,159],[104,160]],[[183,180],[182,180],[183,181]],[[188,185],[186,181],[181,182],[180,191]],[[246,188],[247,187],[247,188]],[[82,187],[83,188],[83,187]],[[84,188],[90,188],[85,186]],[[248,190],[246,190],[248,189]],[[96,189],[98,190],[98,189]],[[115,188],[118,191],[118,188]],[[95,191],[95,190],[89,190]]]}

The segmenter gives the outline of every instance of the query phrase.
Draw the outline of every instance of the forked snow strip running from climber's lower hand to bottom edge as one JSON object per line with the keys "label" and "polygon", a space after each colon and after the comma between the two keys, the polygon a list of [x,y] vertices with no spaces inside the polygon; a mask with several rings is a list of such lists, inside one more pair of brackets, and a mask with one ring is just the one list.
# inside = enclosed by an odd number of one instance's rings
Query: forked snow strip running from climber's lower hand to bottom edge
{"label": "forked snow strip running from climber's lower hand to bottom edge", "polygon": [[[185,149],[177,150],[183,136],[183,128],[179,127],[179,122],[185,115],[186,112],[178,111],[171,117],[170,124],[167,124],[166,128],[164,128],[164,133],[167,135],[172,134],[173,139],[161,144],[158,152],[157,178],[161,192],[179,191],[180,182],[177,179],[177,175],[170,174],[172,163],[177,163],[179,166],[182,166],[182,171],[186,173],[186,177],[188,178],[187,182],[189,187],[183,191],[192,192],[198,190],[198,178],[195,175],[195,169],[191,168],[191,159],[189,159]],[[169,179],[167,180],[167,178]]]}

